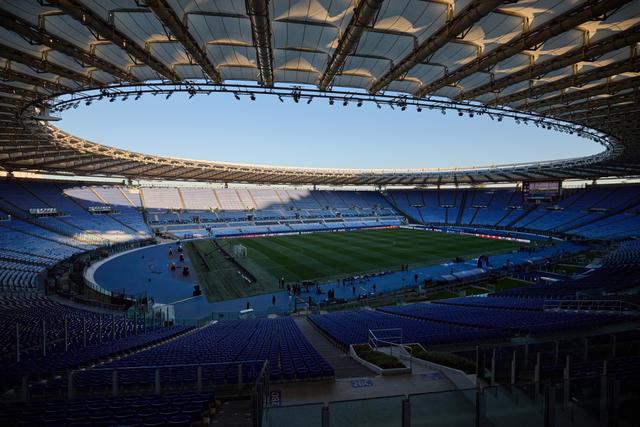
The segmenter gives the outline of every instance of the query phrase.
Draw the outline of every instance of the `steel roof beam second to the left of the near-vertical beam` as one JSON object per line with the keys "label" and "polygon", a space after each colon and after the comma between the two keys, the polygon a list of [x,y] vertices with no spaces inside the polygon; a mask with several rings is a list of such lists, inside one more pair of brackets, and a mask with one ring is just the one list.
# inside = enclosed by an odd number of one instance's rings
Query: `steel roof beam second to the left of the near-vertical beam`
{"label": "steel roof beam second to the left of the near-vertical beam", "polygon": [[100,37],[110,40],[116,46],[120,47],[135,58],[138,62],[148,65],[161,76],[164,76],[173,82],[180,80],[175,71],[169,69],[126,34],[115,28],[113,25],[110,25],[100,15],[80,3],[78,0],[49,0],[49,3],[58,7],[73,19],[100,35]]}

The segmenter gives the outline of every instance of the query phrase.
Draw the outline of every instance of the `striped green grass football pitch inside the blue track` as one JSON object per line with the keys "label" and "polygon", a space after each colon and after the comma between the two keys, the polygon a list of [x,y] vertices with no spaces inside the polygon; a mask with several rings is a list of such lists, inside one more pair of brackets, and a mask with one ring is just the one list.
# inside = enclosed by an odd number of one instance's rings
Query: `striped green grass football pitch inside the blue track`
{"label": "striped green grass football pitch inside the blue track", "polygon": [[401,264],[413,268],[457,256],[468,259],[504,253],[521,246],[517,242],[404,228],[232,238],[218,243],[228,254],[234,253],[236,245],[246,247],[247,255],[235,259],[256,281],[248,285],[238,267],[225,259],[213,242],[189,242],[187,252],[210,301],[277,291],[281,277],[288,283],[323,282],[399,270]]}

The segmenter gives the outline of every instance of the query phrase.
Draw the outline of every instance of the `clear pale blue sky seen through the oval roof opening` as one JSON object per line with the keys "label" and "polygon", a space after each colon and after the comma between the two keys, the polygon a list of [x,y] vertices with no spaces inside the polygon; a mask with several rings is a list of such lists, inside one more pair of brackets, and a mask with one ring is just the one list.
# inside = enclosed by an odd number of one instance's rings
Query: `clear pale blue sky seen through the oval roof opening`
{"label": "clear pale blue sky seen through the oval roof opening", "polygon": [[437,168],[595,154],[590,141],[533,125],[274,96],[145,95],[63,112],[59,126],[128,150],[228,162],[354,168]]}

